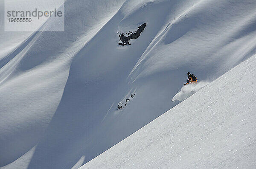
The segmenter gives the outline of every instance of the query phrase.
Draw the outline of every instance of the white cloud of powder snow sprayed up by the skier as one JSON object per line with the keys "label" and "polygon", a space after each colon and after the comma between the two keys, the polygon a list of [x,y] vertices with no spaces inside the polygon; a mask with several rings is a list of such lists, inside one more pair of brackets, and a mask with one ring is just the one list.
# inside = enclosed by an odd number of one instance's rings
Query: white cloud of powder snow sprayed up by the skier
{"label": "white cloud of powder snow sprayed up by the skier", "polygon": [[189,96],[192,96],[200,89],[208,85],[209,82],[200,81],[197,84],[190,83],[188,85],[183,86],[180,91],[172,98],[172,101],[183,101],[187,99]]}

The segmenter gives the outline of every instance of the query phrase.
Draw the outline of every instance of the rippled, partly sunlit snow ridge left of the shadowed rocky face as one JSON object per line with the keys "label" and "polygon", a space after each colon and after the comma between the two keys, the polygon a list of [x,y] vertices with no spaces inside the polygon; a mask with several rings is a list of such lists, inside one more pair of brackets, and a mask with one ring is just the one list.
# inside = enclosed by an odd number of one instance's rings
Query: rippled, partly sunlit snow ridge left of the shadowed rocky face
{"label": "rippled, partly sunlit snow ridge left of the shadowed rocky face", "polygon": [[[60,0],[50,1],[42,3],[47,8]],[[6,32],[0,25],[0,167],[29,167],[30,152],[35,152],[61,101],[71,60],[122,3],[66,0],[64,32]]]}

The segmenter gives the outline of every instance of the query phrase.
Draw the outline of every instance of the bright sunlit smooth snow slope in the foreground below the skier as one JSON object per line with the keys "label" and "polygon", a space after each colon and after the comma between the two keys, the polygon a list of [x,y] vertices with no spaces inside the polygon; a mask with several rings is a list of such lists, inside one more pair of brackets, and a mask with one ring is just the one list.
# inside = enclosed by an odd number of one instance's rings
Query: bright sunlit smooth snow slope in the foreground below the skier
{"label": "bright sunlit smooth snow slope in the foreground below the skier", "polygon": [[256,55],[81,169],[255,168]]}

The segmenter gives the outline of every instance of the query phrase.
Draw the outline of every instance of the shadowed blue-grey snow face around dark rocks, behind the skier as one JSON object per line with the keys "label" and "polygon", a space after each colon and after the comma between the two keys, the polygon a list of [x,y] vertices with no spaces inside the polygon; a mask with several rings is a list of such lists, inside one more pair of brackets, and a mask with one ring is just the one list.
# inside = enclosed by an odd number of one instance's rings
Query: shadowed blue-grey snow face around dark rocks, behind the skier
{"label": "shadowed blue-grey snow face around dark rocks, behind the skier", "polygon": [[[188,71],[219,77],[252,56],[255,7],[255,0],[126,0],[74,56],[29,169],[72,168],[83,156],[87,163],[177,105],[171,100]],[[117,44],[116,32],[143,23],[131,45]]]}

